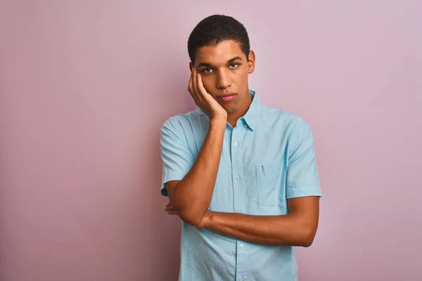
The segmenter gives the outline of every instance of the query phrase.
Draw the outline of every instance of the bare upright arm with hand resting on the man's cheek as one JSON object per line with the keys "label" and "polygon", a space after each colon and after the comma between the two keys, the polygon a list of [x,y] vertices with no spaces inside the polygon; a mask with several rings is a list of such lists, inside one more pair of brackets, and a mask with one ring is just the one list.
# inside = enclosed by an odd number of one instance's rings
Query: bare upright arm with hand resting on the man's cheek
{"label": "bare upright arm with hand resting on the man's cheek", "polygon": [[210,117],[210,130],[186,176],[181,181],[169,181],[166,188],[170,204],[180,218],[196,226],[210,207],[222,155],[227,112],[205,91],[200,74],[194,68],[188,89],[196,104]]}

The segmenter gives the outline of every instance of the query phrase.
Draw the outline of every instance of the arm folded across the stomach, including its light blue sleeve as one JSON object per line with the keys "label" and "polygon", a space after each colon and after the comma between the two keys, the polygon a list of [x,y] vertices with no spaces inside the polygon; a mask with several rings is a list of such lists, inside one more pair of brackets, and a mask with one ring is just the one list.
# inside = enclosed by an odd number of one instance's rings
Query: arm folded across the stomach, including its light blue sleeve
{"label": "arm folded across the stomach, including its light blue sleeve", "polygon": [[[288,214],[250,216],[208,211],[198,228],[211,228],[241,240],[258,244],[288,244],[308,247],[319,221],[319,176],[314,141],[309,126],[301,119],[295,128],[293,154],[289,157],[286,197]],[[177,214],[171,205],[168,214]]]}

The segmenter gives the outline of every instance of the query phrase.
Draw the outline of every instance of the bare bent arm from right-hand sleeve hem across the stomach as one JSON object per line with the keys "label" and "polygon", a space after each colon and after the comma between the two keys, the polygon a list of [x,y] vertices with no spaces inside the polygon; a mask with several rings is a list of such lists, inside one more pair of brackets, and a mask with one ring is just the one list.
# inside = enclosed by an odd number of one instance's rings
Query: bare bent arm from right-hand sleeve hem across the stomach
{"label": "bare bent arm from right-hand sleeve hem across the stomach", "polygon": [[289,214],[250,216],[208,211],[198,228],[210,228],[224,235],[257,244],[309,247],[319,218],[319,197],[288,200]]}

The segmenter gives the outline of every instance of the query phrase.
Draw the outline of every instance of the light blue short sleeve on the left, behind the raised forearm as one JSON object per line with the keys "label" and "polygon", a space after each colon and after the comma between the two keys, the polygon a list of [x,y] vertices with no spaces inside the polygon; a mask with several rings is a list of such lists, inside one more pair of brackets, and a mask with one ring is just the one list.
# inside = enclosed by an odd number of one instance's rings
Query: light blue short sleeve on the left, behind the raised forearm
{"label": "light blue short sleeve on the left, behind the raised forearm", "polygon": [[160,148],[162,159],[161,194],[168,196],[165,184],[181,181],[191,169],[193,155],[188,148],[183,129],[177,119],[168,119],[161,128]]}

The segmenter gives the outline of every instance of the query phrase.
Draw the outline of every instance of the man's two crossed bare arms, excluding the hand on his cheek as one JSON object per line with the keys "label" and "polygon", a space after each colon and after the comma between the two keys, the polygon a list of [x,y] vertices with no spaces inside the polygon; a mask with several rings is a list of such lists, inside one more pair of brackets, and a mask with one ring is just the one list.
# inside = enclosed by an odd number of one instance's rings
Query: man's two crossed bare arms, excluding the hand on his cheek
{"label": "man's two crossed bare arms, excluding the hand on his cheek", "polygon": [[281,216],[252,216],[208,210],[217,178],[225,126],[225,122],[211,122],[207,137],[188,174],[181,181],[166,183],[170,203],[165,211],[196,228],[209,228],[257,244],[309,247],[319,221],[317,196],[288,199],[288,214]]}

